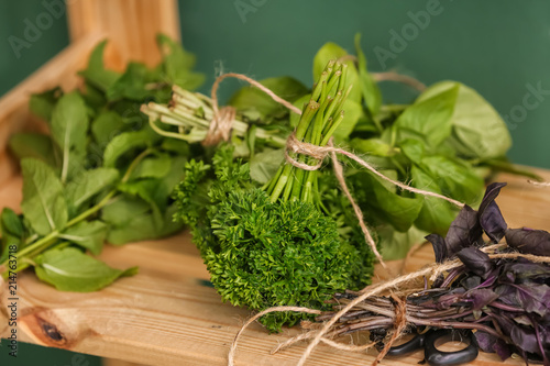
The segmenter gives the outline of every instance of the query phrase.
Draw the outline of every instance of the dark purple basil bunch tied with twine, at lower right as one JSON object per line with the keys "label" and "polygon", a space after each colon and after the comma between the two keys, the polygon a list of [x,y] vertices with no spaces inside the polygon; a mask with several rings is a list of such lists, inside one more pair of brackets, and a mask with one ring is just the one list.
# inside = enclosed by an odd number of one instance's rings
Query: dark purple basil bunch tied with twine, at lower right
{"label": "dark purple basil bunch tied with twine, at lower right", "polygon": [[[408,331],[431,329],[475,330],[477,345],[497,353],[503,361],[513,353],[525,359],[550,361],[550,266],[514,253],[550,255],[550,233],[541,230],[508,229],[494,201],[505,184],[492,184],[480,210],[464,207],[451,224],[447,237],[431,234],[438,263],[459,258],[462,266],[441,276],[422,291],[406,299]],[[490,239],[485,243],[483,234]],[[488,244],[502,244],[487,253]],[[510,254],[492,258],[490,254]],[[338,293],[334,311],[344,307],[355,292]],[[386,297],[371,297],[358,304],[336,324],[333,335],[359,330],[371,331],[383,346],[384,335],[394,326],[389,315],[394,303]],[[389,310],[389,312],[388,312]],[[327,312],[317,318],[324,321]]]}

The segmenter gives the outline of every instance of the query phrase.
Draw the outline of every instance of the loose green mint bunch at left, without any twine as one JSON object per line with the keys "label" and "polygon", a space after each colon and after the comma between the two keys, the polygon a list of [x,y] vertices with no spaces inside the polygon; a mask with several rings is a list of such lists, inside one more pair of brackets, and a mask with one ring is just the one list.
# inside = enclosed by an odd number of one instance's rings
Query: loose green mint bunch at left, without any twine
{"label": "loose green mint bunch at left, without any twine", "polygon": [[[164,35],[157,42],[163,59],[154,68],[131,63],[122,74],[106,69],[102,42],[80,73],[84,90],[31,97],[31,111],[51,133],[10,138],[21,159],[23,213],[4,209],[0,217],[4,277],[33,266],[59,290],[98,290],[135,268],[110,268],[86,251],[97,255],[106,240],[118,245],[183,228],[172,222],[170,193],[193,152],[154,133],[140,107],[167,101],[172,85],[196,88],[204,77],[191,71],[195,57],[177,43]],[[9,262],[12,245],[18,267]]]}

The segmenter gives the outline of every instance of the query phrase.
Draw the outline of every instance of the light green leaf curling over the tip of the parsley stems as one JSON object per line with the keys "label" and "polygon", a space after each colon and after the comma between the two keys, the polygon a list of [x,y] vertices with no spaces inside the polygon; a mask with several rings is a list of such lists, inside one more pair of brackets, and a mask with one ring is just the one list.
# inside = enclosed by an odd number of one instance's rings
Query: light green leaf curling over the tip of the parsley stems
{"label": "light green leaf curling over the tip of the parsley stems", "polygon": [[[314,58],[314,80],[318,80],[321,76],[322,70],[331,59],[339,59],[343,56],[348,56],[345,49],[337,45],[336,43],[329,42],[326,43],[315,55]],[[348,97],[349,100],[353,100],[355,102],[361,102],[361,87],[359,86],[358,78],[359,74],[353,65],[353,60],[349,59],[343,64],[348,65],[348,75],[345,76],[345,85],[344,90],[353,85],[351,92]]]}

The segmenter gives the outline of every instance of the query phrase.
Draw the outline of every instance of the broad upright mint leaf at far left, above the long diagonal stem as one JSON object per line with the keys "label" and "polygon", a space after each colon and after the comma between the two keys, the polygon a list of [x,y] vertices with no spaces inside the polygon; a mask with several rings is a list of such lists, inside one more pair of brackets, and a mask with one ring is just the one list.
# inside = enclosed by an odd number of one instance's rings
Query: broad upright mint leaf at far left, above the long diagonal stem
{"label": "broad upright mint leaf at far left, above the long diagonal stem", "polygon": [[67,203],[63,186],[54,170],[41,160],[21,162],[23,201],[21,209],[31,226],[40,235],[62,230],[67,223]]}

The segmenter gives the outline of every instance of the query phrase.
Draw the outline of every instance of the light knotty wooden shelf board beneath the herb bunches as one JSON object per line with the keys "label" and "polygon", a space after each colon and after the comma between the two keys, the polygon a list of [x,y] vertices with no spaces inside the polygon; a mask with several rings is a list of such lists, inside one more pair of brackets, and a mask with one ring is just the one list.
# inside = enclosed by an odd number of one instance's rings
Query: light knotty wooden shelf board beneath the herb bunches
{"label": "light knotty wooden shelf board beneath the herb bunches", "polygon": [[[550,171],[539,171],[550,180]],[[550,230],[550,188],[528,185],[524,178],[502,175],[509,185],[498,203],[510,226]],[[19,209],[21,179],[14,178],[0,189],[0,206]],[[34,274],[20,275],[20,341],[51,347],[119,358],[145,365],[224,365],[229,345],[243,320],[245,309],[221,303],[207,285],[208,273],[190,243],[179,234],[157,242],[123,247],[109,246],[101,258],[111,266],[140,266],[140,274],[123,278],[94,293],[59,292],[36,280]],[[406,270],[432,263],[429,245],[407,262]],[[396,267],[399,263],[394,264]],[[2,314],[6,317],[6,285],[1,287]],[[0,336],[9,329],[0,319]],[[237,365],[294,365],[304,344],[270,355],[278,342],[299,334],[285,330],[270,335],[260,324],[244,333]],[[367,365],[374,353],[350,354],[319,345],[308,365]],[[385,359],[385,365],[416,365],[420,352],[404,358]],[[481,354],[473,365],[501,365],[498,357]],[[521,365],[517,359],[506,364]]]}

